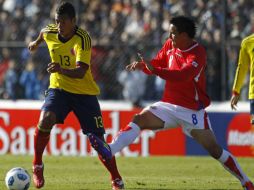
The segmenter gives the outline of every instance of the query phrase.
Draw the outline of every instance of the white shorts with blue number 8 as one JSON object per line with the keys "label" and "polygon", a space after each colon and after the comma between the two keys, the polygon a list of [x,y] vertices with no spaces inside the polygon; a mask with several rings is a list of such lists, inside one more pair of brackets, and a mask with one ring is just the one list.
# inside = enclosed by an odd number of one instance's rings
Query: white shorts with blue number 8
{"label": "white shorts with blue number 8", "polygon": [[175,128],[180,125],[183,132],[190,137],[192,129],[212,130],[209,117],[204,109],[197,111],[166,102],[156,102],[147,106],[145,110],[163,120],[165,122],[164,129]]}

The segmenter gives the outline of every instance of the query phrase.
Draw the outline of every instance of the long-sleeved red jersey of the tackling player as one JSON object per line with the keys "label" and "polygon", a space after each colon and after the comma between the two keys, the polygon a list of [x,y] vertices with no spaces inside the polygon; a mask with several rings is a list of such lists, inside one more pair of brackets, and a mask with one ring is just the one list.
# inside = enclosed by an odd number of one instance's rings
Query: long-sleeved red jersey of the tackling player
{"label": "long-sleeved red jersey of the tackling player", "polygon": [[199,110],[210,104],[206,93],[205,67],[206,51],[198,43],[187,50],[174,48],[168,39],[157,55],[151,60],[153,73],[166,80],[163,102]]}

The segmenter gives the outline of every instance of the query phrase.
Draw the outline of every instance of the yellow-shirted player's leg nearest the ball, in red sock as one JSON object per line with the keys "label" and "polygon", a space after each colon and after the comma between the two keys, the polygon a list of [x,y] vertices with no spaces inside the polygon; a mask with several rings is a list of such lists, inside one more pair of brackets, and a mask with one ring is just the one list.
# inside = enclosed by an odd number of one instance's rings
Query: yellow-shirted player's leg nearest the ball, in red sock
{"label": "yellow-shirted player's leg nearest the ball, in red sock", "polygon": [[47,91],[38,126],[34,133],[33,182],[36,188],[41,188],[44,185],[42,156],[49,142],[52,127],[56,123],[63,123],[70,111],[65,103],[67,101],[65,101],[62,92],[54,89]]}

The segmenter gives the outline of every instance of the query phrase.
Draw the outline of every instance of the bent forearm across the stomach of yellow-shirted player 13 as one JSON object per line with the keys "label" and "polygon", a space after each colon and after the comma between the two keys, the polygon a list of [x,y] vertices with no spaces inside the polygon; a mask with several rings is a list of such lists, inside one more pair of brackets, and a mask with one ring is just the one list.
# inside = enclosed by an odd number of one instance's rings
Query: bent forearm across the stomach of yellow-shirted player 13
{"label": "bent forearm across the stomach of yellow-shirted player 13", "polygon": [[76,68],[74,69],[65,69],[60,66],[59,63],[49,63],[47,71],[49,73],[58,72],[59,74],[71,77],[71,78],[83,78],[87,69],[89,68],[88,64],[83,62],[77,62]]}

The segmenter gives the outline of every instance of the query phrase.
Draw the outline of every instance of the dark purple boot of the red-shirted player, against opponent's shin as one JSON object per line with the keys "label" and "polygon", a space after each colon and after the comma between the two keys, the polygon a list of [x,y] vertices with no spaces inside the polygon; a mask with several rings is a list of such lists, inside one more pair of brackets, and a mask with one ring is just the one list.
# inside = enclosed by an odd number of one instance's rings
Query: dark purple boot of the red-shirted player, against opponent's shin
{"label": "dark purple boot of the red-shirted player, against opponent's shin", "polygon": [[112,158],[110,147],[106,142],[92,133],[87,134],[87,136],[92,147],[98,152],[99,155],[101,155],[104,160],[110,160]]}

